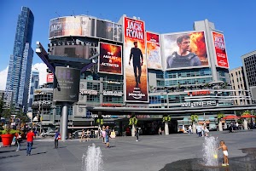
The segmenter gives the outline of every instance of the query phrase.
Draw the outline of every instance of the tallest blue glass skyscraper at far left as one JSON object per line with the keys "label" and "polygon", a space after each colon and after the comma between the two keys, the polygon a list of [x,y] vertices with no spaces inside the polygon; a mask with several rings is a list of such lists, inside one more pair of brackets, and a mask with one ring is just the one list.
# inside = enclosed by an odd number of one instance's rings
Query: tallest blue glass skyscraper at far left
{"label": "tallest blue glass skyscraper at far left", "polygon": [[[29,83],[32,68],[33,50],[32,31],[34,25],[34,16],[32,11],[26,7],[21,8],[19,14],[15,45],[13,54],[10,55],[9,71],[6,83],[6,92],[13,92],[13,101],[10,102],[15,108],[27,110],[27,99],[29,91]],[[10,98],[9,98],[10,99]],[[6,101],[9,103],[9,101]]]}

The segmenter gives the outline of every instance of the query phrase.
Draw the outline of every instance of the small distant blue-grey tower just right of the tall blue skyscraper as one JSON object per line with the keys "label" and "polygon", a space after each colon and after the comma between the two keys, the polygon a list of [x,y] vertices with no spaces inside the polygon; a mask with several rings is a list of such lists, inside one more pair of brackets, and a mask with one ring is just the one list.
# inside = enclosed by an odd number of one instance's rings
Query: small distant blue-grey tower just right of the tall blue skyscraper
{"label": "small distant blue-grey tower just right of the tall blue skyscraper", "polygon": [[32,71],[32,74],[31,74],[31,83],[30,83],[29,100],[28,100],[28,111],[32,111],[34,90],[38,89],[38,86],[39,86],[39,71],[35,70],[35,71]]}

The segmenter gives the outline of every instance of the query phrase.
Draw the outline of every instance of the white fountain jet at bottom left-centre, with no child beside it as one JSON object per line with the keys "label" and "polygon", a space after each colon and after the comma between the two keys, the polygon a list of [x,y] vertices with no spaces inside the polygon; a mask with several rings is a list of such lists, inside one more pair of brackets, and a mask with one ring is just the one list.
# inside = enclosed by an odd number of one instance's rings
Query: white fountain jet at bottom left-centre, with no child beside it
{"label": "white fountain jet at bottom left-centre, with no child beside it", "polygon": [[87,154],[82,157],[82,171],[103,171],[102,151],[95,144],[88,146]]}

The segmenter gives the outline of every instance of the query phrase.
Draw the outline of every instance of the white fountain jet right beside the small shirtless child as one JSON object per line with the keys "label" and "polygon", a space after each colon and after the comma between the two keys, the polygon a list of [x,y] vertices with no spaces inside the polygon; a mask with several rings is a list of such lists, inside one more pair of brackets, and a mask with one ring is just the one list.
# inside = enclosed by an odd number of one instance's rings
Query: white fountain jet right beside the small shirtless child
{"label": "white fountain jet right beside the small shirtless child", "polygon": [[203,165],[218,166],[218,138],[205,137],[202,151]]}

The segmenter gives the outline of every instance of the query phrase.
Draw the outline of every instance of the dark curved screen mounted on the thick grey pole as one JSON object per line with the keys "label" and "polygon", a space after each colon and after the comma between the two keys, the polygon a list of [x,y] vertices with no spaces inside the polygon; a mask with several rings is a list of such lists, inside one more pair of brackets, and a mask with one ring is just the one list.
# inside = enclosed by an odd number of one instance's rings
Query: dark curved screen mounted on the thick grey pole
{"label": "dark curved screen mounted on the thick grey pole", "polygon": [[55,67],[54,101],[79,101],[80,70],[62,66]]}

